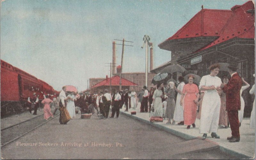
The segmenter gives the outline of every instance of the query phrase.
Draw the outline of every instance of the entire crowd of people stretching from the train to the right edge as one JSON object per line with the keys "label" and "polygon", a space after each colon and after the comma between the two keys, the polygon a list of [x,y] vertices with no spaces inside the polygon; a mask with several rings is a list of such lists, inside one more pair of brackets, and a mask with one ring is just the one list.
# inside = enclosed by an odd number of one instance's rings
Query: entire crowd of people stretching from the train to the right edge
{"label": "entire crowd of people stretching from the train to the right edge", "polygon": [[[218,128],[228,128],[230,125],[232,136],[227,139],[229,142],[239,142],[239,127],[244,115],[244,100],[242,92],[250,87],[236,72],[236,64],[228,67],[231,78],[217,76],[220,70],[218,63],[210,66],[210,74],[203,76],[199,86],[194,81],[194,76],[188,76],[188,83],[185,84],[184,77],[178,78],[178,86],[174,82],[168,84],[159,83],[156,87],[151,87],[148,91],[144,86],[138,94],[134,91],[116,91],[113,89],[111,94],[107,89],[98,94],[90,92],[76,94],[66,92],[63,87],[60,95],[45,95],[44,100],[44,119],[53,117],[56,111],[60,110],[60,124],[75,118],[76,113],[92,113],[103,115],[104,119],[119,117],[120,108],[124,107],[124,112],[135,110],[140,107],[140,113],[148,113],[150,117],[163,117],[167,119],[167,124],[185,125],[187,129],[196,127],[196,118],[200,120],[199,133],[203,134],[203,139],[211,133],[212,138],[220,138],[217,134]],[[253,75],[255,76],[255,75]],[[244,85],[243,85],[244,84]],[[250,90],[254,94],[255,84]],[[67,95],[66,95],[67,93]],[[34,94],[31,98],[34,105],[34,114],[38,108],[38,96]],[[50,105],[55,110],[51,113]],[[112,113],[109,116],[111,106]],[[32,107],[31,107],[32,108]],[[98,110],[99,109],[99,110]],[[149,110],[148,110],[149,109]],[[251,113],[250,127],[255,128],[255,102]],[[29,109],[31,113],[31,109]]]}

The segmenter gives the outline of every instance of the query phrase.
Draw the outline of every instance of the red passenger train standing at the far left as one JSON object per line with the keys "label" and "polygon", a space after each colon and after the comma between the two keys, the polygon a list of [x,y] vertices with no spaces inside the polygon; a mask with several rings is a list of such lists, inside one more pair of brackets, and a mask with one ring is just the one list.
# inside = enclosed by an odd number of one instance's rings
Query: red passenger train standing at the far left
{"label": "red passenger train standing at the far left", "polygon": [[33,93],[44,99],[43,93],[54,94],[51,85],[1,60],[1,116],[25,110]]}

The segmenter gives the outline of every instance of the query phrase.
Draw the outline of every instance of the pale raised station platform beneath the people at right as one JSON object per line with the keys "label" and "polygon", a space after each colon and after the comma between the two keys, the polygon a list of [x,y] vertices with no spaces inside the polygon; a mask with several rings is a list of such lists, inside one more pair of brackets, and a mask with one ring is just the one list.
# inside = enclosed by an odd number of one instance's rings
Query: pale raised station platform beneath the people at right
{"label": "pale raised station platform beneath the people at right", "polygon": [[[196,119],[195,128],[191,126],[190,129],[187,129],[187,126],[177,125],[178,122],[175,125],[166,124],[168,120],[151,123],[149,121],[149,113],[140,113],[140,107],[136,107],[136,115],[131,115],[131,111],[134,111],[133,109],[128,109],[128,112],[124,112],[124,110],[124,107],[120,109],[120,113],[187,140],[202,138],[203,136],[203,134],[199,134],[200,120],[198,119]],[[255,129],[251,129],[249,125],[250,118],[244,118],[239,128],[240,142],[228,142],[227,137],[231,136],[230,127],[227,129],[219,127],[217,134],[220,135],[220,139],[212,138],[211,134],[207,134],[207,140],[217,143],[220,146],[220,150],[230,155],[246,159],[253,158],[255,157]]]}

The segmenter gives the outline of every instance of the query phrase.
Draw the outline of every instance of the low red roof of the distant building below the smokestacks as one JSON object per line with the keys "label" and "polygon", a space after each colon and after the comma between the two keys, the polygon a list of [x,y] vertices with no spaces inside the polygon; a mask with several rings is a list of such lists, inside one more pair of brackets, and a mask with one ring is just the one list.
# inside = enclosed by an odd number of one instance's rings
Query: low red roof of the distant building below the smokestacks
{"label": "low red roof of the distant building below the smokestacks", "polygon": [[[119,86],[120,77],[119,76],[113,76],[111,78],[111,85],[112,86]],[[92,86],[92,88],[99,87],[99,86],[109,86],[110,85],[110,78],[104,79],[103,81],[99,82],[98,84],[95,84]],[[138,86],[138,84],[133,83],[125,78],[122,78],[122,86]]]}

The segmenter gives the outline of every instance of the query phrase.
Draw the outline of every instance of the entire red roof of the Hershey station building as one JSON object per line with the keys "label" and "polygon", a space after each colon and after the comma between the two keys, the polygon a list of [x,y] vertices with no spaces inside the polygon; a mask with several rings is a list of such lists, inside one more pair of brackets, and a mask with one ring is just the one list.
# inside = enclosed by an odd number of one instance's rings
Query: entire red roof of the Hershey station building
{"label": "entire red roof of the Hershey station building", "polygon": [[[253,39],[255,33],[255,15],[247,13],[248,10],[252,9],[254,9],[252,1],[248,1],[242,5],[235,5],[231,10],[202,9],[191,18],[188,23],[180,28],[177,33],[158,46],[161,49],[171,51],[171,49],[175,47],[175,44],[177,46],[177,40],[182,40],[180,41],[181,44],[191,43],[189,40],[193,38],[193,40],[197,40],[201,46],[195,44],[194,48],[189,47],[184,49],[186,46],[176,48],[176,50],[183,49],[182,52],[192,54],[235,37]],[[212,37],[213,39],[205,39],[204,42],[201,42],[200,38],[202,37]]]}

